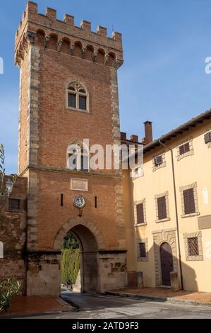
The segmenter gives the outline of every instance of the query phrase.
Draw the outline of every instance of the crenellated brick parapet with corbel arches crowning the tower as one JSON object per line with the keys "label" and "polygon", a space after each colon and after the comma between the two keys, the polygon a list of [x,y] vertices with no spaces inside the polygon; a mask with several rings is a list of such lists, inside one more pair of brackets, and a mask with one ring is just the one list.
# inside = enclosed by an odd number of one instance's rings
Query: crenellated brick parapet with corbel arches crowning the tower
{"label": "crenellated brick parapet with corbel arches crowning the tower", "polygon": [[30,45],[37,45],[73,57],[119,68],[123,64],[121,33],[114,31],[107,37],[107,28],[97,27],[92,32],[91,23],[83,20],[80,27],[74,25],[74,17],[64,15],[64,21],[56,18],[56,10],[47,8],[38,13],[38,6],[29,1],[16,33],[15,62],[21,66]]}

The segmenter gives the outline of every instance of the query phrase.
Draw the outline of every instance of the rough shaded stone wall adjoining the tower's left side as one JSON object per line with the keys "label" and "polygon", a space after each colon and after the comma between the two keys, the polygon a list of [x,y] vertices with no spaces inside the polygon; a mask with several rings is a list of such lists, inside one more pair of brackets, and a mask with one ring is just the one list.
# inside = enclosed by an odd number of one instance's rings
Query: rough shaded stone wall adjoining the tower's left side
{"label": "rough shaded stone wall adjoining the tower's left side", "polygon": [[4,246],[4,258],[0,259],[0,280],[16,276],[25,288],[24,250],[26,239],[27,179],[19,178],[11,199],[20,200],[20,209],[11,211],[8,198],[0,198],[0,242]]}

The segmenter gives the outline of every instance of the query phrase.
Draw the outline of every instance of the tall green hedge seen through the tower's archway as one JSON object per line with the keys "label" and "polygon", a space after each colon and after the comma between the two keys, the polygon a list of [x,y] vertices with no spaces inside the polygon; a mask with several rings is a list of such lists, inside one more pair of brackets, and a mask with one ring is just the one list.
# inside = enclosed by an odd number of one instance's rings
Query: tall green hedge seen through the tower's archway
{"label": "tall green hedge seen through the tower's archway", "polygon": [[61,283],[75,284],[80,271],[79,249],[63,249],[61,257]]}

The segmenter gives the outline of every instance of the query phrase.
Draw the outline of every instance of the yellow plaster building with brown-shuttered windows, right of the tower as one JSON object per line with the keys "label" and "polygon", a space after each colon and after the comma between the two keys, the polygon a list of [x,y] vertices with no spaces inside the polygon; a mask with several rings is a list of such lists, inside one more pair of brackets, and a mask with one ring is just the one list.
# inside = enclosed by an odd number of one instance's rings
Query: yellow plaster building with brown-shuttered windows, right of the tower
{"label": "yellow plaster building with brown-shuttered windows, right of the tower", "polygon": [[210,117],[147,140],[142,176],[124,171],[129,286],[171,286],[174,271],[184,290],[211,292]]}

